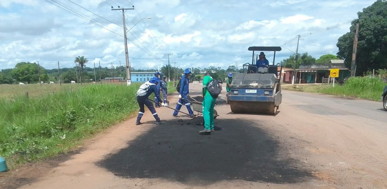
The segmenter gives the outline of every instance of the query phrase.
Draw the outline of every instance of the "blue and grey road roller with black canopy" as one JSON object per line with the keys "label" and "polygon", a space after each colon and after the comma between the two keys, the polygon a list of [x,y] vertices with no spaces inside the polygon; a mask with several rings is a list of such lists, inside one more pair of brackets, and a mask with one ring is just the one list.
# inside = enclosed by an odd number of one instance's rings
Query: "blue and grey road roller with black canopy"
{"label": "blue and grey road roller with black canopy", "polygon": [[[281,64],[274,65],[276,51],[281,47],[248,47],[253,51],[252,64],[243,64],[243,73],[233,75],[228,103],[234,113],[275,115],[282,102]],[[272,65],[262,66],[255,62],[255,51],[274,51]]]}

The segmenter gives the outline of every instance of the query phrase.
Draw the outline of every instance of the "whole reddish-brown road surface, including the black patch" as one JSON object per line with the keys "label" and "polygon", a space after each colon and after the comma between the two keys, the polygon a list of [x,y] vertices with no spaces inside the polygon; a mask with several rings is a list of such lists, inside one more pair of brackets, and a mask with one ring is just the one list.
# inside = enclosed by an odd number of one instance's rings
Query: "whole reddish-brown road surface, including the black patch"
{"label": "whole reddish-brown road surface, including the black patch", "polygon": [[[190,95],[199,96],[200,89],[191,86]],[[175,107],[177,95],[169,101]],[[199,135],[202,117],[174,118],[162,107],[156,110],[166,124],[155,125],[146,111],[143,125],[129,119],[55,163],[7,173],[0,186],[387,188],[382,103],[294,91],[283,91],[282,102],[277,115],[234,114],[223,94],[211,135]]]}

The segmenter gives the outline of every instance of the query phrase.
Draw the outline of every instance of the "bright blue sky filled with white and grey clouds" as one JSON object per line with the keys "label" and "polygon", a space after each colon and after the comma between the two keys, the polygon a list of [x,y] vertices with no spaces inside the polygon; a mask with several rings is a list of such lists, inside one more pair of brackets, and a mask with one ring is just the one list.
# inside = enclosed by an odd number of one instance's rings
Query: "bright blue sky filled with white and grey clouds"
{"label": "bright blue sky filled with white and grey clouds", "polygon": [[[0,0],[0,69],[37,61],[46,69],[58,68],[58,61],[61,68],[72,68],[77,56],[89,60],[87,67],[93,62],[109,68],[111,62],[125,65],[122,12],[111,6],[132,5],[135,10],[127,10],[125,20],[130,66],[135,69],[161,68],[168,64],[165,54],[173,54],[170,64],[183,69],[239,69],[252,61],[250,46],[282,47],[277,63],[296,52],[297,35],[298,52],[319,58],[336,54],[337,39],[349,32],[348,22],[373,2]],[[141,20],[146,17],[151,19]],[[332,29],[337,24],[341,26]],[[272,62],[273,52],[265,54]]]}

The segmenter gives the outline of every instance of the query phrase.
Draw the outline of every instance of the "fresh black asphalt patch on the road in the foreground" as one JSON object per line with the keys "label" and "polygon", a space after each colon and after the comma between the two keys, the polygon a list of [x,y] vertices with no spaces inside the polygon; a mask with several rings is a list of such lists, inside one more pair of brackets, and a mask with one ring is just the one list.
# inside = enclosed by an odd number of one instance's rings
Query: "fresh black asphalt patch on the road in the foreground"
{"label": "fresh black asphalt patch on the road in the foreground", "polygon": [[[97,164],[124,178],[159,178],[186,184],[224,180],[297,183],[313,177],[280,150],[276,137],[245,120],[216,119],[216,131],[199,135],[202,117],[167,122],[128,142]],[[139,127],[147,127],[140,125]]]}

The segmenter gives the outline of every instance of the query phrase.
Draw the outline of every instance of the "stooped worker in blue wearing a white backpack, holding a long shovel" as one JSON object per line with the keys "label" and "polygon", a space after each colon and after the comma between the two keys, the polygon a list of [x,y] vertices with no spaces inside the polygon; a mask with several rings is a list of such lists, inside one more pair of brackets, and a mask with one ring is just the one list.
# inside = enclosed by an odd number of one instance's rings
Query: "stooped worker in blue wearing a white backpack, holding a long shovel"
{"label": "stooped worker in blue wearing a white backpack, holding a long shovel", "polygon": [[[154,96],[159,101],[158,105],[160,106],[160,102],[162,100],[159,96],[160,90],[157,88],[157,84],[159,84],[159,81],[160,80],[158,77],[153,77],[150,81],[146,81],[144,84],[142,84],[139,90],[137,91],[137,103],[139,104],[140,111],[139,111],[139,115],[137,116],[136,125],[142,124],[140,120],[145,113],[144,105],[146,105],[149,111],[151,111],[153,117],[156,119],[157,125],[164,124],[163,122],[161,122],[159,116],[157,115],[156,109],[154,109],[152,102],[148,99],[148,97],[152,93],[154,93]],[[164,103],[161,103],[161,105],[164,106]]]}

